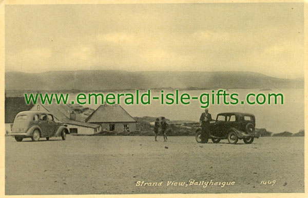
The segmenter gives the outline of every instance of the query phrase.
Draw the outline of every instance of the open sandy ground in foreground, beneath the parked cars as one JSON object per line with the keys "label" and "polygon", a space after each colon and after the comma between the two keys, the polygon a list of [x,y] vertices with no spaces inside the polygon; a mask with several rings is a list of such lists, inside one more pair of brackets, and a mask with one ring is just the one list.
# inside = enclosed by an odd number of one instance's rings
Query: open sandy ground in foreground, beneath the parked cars
{"label": "open sandy ground in foreground, beneath the parked cars", "polygon": [[263,137],[252,145],[194,137],[30,140],[6,137],[8,195],[304,192],[303,137]]}

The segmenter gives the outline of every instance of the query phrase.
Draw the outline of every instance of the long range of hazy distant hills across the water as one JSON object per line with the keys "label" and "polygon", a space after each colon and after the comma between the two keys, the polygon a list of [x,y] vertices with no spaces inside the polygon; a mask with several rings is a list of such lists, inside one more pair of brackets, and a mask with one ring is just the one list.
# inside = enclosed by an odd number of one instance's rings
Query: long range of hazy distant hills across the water
{"label": "long range of hazy distant hills across the water", "polygon": [[124,89],[303,88],[303,79],[279,79],[259,73],[224,71],[77,70],[30,74],[5,73],[6,90],[103,91]]}

